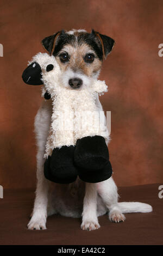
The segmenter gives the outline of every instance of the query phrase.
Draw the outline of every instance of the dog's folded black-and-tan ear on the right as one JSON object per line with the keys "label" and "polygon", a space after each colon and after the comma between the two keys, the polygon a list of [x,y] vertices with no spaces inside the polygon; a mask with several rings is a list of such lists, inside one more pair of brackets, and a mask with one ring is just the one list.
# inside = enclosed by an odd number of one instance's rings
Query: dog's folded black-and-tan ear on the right
{"label": "dog's folded black-and-tan ear on the right", "polygon": [[102,35],[99,32],[94,31],[93,29],[92,29],[91,34],[96,36],[98,43],[101,44],[102,51],[103,51],[103,58],[106,59],[108,54],[112,51],[112,49],[115,45],[115,41],[112,38],[110,38],[109,36]]}

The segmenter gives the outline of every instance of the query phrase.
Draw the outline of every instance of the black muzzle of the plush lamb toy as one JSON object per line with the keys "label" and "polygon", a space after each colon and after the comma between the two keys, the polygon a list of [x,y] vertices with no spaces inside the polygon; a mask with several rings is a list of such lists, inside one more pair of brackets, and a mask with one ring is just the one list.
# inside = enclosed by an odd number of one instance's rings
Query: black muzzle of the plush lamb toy
{"label": "black muzzle of the plush lamb toy", "polygon": [[30,64],[22,74],[24,83],[30,84],[32,86],[40,86],[43,84],[41,78],[41,66],[37,62]]}

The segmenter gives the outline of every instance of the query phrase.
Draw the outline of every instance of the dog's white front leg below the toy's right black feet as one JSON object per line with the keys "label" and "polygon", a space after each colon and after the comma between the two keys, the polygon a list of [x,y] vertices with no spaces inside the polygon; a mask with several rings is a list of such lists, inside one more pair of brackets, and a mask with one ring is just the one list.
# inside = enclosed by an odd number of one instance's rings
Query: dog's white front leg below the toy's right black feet
{"label": "dog's white front leg below the toy's right black feet", "polygon": [[95,183],[85,184],[85,197],[82,214],[83,230],[95,230],[100,227],[97,218],[97,189]]}

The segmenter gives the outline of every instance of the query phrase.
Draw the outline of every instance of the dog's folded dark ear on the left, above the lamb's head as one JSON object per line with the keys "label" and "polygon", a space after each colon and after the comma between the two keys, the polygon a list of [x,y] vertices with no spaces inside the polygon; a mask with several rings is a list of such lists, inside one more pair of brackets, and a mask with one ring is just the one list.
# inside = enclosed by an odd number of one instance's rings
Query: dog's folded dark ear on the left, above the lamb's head
{"label": "dog's folded dark ear on the left, above the lamb's head", "polygon": [[55,44],[57,42],[57,39],[60,34],[62,34],[63,31],[58,31],[54,35],[47,36],[41,41],[41,44],[45,48],[45,50],[48,51],[48,53],[51,55],[54,52]]}

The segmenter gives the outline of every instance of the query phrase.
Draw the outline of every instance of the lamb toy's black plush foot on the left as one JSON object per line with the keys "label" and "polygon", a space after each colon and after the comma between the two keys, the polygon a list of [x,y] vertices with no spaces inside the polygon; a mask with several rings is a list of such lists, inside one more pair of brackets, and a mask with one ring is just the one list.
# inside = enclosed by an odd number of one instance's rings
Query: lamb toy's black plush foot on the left
{"label": "lamb toy's black plush foot on the left", "polygon": [[53,149],[44,164],[45,178],[60,184],[68,184],[77,179],[78,171],[73,163],[74,147],[63,146]]}

